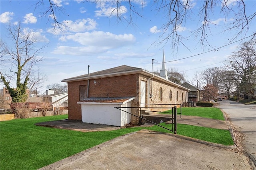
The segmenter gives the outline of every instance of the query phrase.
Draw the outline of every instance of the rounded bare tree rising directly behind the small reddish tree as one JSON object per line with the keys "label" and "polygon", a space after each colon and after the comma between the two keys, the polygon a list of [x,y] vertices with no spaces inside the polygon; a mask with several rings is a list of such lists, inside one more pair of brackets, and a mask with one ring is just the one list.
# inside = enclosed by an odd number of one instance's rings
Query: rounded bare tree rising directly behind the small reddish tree
{"label": "rounded bare tree rising directly behind the small reddish tree", "polygon": [[225,69],[222,67],[211,67],[206,70],[204,70],[204,80],[206,81],[206,84],[212,84],[217,89],[220,88],[222,79],[224,77]]}

